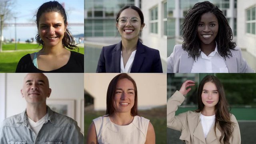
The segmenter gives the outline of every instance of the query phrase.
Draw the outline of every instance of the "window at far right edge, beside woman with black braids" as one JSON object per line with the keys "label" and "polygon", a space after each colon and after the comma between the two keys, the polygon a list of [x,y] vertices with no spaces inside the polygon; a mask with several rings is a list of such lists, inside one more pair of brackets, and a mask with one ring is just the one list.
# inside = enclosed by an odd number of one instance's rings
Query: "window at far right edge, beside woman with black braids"
{"label": "window at far right edge, beside woman with black braids", "polygon": [[255,34],[256,30],[256,7],[246,10],[246,33]]}

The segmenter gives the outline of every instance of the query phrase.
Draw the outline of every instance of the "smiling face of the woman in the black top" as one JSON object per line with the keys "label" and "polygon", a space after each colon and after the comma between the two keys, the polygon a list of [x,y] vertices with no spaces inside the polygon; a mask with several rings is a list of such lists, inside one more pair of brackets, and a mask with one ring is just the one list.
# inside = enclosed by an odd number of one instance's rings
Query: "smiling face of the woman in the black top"
{"label": "smiling face of the woman in the black top", "polygon": [[38,32],[46,47],[62,46],[66,25],[60,13],[45,12],[40,16]]}

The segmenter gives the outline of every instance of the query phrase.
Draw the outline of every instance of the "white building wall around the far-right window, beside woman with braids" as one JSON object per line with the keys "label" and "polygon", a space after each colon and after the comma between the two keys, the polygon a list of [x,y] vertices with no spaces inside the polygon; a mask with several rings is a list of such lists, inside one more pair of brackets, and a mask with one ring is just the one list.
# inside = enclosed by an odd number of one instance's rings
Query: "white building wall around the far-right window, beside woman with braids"
{"label": "white building wall around the far-right window, beside woman with braids", "polygon": [[256,5],[255,0],[237,1],[237,45],[256,56],[256,35],[246,34],[246,9]]}

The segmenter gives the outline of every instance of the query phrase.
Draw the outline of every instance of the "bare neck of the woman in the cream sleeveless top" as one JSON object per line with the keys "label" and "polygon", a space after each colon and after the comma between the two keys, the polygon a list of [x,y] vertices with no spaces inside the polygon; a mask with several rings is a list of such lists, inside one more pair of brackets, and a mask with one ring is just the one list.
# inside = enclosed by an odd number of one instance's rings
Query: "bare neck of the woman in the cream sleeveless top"
{"label": "bare neck of the woman in the cream sleeveless top", "polygon": [[114,122],[117,125],[121,125],[121,126],[125,126],[128,125],[130,123],[132,123],[134,116],[131,116],[130,113],[116,113],[114,112],[111,116],[110,116],[110,120],[112,122]]}

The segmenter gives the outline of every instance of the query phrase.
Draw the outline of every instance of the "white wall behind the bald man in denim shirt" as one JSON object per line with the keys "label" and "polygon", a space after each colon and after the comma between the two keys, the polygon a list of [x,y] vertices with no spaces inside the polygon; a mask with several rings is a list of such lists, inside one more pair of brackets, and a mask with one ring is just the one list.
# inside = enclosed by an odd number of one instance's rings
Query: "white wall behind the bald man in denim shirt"
{"label": "white wall behind the bald man in denim shirt", "polygon": [[[81,110],[81,100],[84,99],[84,74],[46,73],[45,75],[48,77],[52,89],[49,99],[75,100],[74,119],[81,128],[81,123],[84,122],[81,116],[84,112],[84,109]],[[24,76],[26,74],[6,74],[6,117],[21,113],[26,108],[26,100],[20,94]]]}

